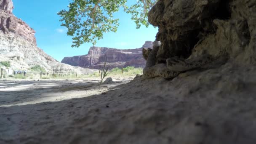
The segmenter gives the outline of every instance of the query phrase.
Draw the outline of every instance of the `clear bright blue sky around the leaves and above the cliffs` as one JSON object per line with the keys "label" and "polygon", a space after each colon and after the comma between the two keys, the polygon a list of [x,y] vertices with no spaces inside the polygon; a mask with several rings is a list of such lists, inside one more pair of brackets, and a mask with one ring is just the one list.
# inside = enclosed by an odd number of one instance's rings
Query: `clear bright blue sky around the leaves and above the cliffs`
{"label": "clear bright blue sky around the leaves and above the cliffs", "polygon": [[[37,46],[50,56],[61,61],[65,56],[77,56],[88,53],[92,43],[85,43],[79,48],[72,48],[72,37],[67,36],[67,30],[61,27],[60,17],[57,15],[62,9],[67,9],[71,0],[13,0],[13,13],[21,18],[36,31]],[[132,3],[136,0],[128,0]],[[155,40],[157,28],[142,26],[136,29],[131,21],[131,15],[123,11],[115,13],[120,19],[120,26],[116,33],[104,34],[96,46],[109,48],[140,48],[145,41]]]}

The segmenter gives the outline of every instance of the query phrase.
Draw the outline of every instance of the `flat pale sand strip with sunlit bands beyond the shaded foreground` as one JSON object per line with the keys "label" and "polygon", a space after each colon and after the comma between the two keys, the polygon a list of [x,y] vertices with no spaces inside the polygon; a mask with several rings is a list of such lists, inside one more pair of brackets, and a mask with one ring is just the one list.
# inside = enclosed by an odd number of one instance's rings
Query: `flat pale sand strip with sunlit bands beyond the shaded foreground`
{"label": "flat pale sand strip with sunlit bands beyond the shaded foreground", "polygon": [[0,107],[83,98],[112,90],[133,77],[113,78],[99,85],[99,79],[86,80],[3,80],[0,81]]}

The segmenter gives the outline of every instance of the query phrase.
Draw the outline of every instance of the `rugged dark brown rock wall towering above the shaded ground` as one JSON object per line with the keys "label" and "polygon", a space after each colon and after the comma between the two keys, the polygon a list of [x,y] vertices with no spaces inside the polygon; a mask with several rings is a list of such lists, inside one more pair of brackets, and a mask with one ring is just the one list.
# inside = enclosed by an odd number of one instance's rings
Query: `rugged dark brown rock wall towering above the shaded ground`
{"label": "rugged dark brown rock wall towering above the shaded ground", "polygon": [[238,63],[255,63],[255,0],[159,0],[149,22],[159,28],[158,63],[207,51],[226,52]]}

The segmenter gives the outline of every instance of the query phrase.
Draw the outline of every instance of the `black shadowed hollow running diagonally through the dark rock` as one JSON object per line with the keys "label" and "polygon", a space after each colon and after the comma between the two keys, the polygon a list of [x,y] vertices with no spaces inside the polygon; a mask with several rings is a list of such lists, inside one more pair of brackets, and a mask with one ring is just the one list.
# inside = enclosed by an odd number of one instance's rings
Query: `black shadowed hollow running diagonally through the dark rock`
{"label": "black shadowed hollow running diagonally through the dark rock", "polygon": [[[211,14],[209,13],[210,16],[203,19],[202,23],[198,22],[197,29],[188,32],[182,39],[179,38],[177,41],[168,43],[168,47],[171,48],[168,56],[177,56],[181,59],[187,59],[191,56],[192,49],[200,40],[209,34],[216,33],[217,27],[213,24],[214,19],[228,20],[231,17],[229,0],[221,0],[219,3],[210,5],[207,8]],[[163,25],[165,24],[163,23]],[[195,23],[192,23],[191,25],[195,25]],[[162,59],[160,62],[165,62],[164,60],[165,59]]]}

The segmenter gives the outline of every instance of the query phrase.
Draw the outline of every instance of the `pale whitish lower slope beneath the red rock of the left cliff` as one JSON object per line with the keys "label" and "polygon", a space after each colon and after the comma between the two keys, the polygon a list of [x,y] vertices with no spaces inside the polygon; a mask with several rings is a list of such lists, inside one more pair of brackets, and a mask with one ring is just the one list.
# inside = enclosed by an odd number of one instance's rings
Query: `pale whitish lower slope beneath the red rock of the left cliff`
{"label": "pale whitish lower slope beneath the red rock of the left cliff", "polygon": [[38,48],[34,43],[16,37],[11,34],[4,34],[0,31],[0,61],[10,61],[11,69],[29,69],[35,65],[40,65],[47,71],[55,72],[77,72],[88,74],[95,72],[94,69],[83,69],[62,64]]}

